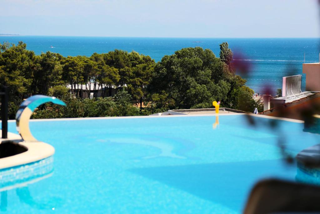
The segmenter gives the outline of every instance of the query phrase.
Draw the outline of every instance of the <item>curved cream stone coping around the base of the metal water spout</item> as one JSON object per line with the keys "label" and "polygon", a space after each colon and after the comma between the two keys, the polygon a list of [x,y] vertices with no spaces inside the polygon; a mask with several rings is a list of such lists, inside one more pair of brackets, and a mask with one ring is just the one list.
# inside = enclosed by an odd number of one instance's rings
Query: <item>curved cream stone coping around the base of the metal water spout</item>
{"label": "curved cream stone coping around the base of the metal water spout", "polygon": [[54,154],[55,150],[53,146],[48,143],[41,141],[22,141],[20,135],[10,132],[8,132],[8,137],[9,138],[7,139],[0,139],[0,143],[6,143],[5,141],[10,141],[24,146],[28,150],[17,155],[0,158],[0,170],[39,161]]}

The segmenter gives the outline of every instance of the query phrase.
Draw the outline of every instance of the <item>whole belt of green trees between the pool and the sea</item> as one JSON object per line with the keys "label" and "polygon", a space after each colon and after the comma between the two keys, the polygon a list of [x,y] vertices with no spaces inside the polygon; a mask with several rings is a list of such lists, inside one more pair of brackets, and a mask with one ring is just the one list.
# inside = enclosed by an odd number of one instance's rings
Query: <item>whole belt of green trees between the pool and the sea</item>
{"label": "whole belt of green trees between the pool and the sea", "polygon": [[[226,42],[220,45],[220,58],[195,47],[164,56],[158,63],[135,51],[63,57],[49,51],[37,56],[26,47],[23,42],[0,44],[0,85],[10,90],[10,119],[22,100],[35,94],[58,97],[67,107],[45,104],[33,118],[148,115],[174,108],[209,108],[213,100],[250,112],[260,105],[228,65],[232,52]],[[111,97],[113,90],[116,95]],[[83,99],[92,92],[93,99]],[[102,97],[97,98],[100,92]],[[140,100],[145,109],[133,105]]]}

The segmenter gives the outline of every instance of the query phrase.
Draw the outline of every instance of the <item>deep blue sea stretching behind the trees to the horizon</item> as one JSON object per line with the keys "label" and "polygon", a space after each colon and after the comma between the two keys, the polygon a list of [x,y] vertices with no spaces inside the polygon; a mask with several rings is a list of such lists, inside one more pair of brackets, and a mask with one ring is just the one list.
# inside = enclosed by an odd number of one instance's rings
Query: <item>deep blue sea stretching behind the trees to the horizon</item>
{"label": "deep blue sea stretching behind the trees to the horizon", "polygon": [[[282,77],[302,74],[301,90],[305,90],[303,63],[319,62],[320,38],[132,38],[71,36],[1,36],[0,42],[23,41],[36,54],[51,51],[63,56],[91,56],[120,49],[149,55],[156,62],[165,55],[185,47],[209,48],[219,57],[222,42],[228,42],[234,59],[246,72],[237,74],[247,80],[255,93],[270,89],[272,95],[282,87]],[[52,47],[51,47],[52,46]]]}

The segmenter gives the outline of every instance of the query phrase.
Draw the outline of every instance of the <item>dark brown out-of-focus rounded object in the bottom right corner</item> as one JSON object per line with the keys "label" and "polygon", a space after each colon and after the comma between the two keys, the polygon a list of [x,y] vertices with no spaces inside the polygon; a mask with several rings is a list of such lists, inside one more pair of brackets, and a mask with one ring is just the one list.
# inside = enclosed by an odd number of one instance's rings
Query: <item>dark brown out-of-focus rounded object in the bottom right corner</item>
{"label": "dark brown out-of-focus rounded object in the bottom right corner", "polygon": [[320,187],[268,179],[252,189],[244,214],[319,213]]}

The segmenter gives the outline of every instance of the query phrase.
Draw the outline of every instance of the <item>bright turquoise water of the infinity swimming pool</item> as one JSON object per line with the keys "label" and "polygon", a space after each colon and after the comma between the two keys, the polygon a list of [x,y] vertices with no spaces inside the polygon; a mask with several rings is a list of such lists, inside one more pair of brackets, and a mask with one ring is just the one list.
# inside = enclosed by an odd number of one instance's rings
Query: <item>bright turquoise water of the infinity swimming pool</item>
{"label": "bright turquoise water of the infinity swimming pool", "polygon": [[[2,192],[8,213],[241,213],[252,185],[294,180],[277,132],[293,155],[319,135],[303,124],[244,115],[34,120],[36,139],[54,146],[51,176]],[[9,131],[15,123],[9,122]],[[4,196],[3,196],[4,195]]]}

